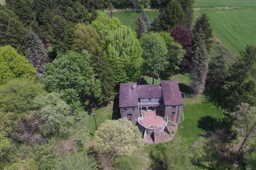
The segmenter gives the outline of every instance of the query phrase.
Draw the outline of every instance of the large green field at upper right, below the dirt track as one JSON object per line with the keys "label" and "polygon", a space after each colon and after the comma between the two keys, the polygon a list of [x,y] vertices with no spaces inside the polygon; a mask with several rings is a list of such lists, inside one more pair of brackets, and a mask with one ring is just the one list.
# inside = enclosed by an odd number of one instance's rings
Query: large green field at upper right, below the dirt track
{"label": "large green field at upper right, below the dirt track", "polygon": [[[255,1],[256,2],[256,1]],[[202,10],[209,17],[214,34],[232,53],[256,45],[255,9]]]}

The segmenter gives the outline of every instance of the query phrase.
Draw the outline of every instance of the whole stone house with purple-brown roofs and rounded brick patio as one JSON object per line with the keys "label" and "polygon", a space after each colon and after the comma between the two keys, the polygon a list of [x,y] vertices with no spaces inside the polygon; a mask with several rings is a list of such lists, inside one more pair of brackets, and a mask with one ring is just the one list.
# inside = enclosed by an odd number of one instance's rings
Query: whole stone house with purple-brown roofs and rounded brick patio
{"label": "whole stone house with purple-brown roofs and rounded brick patio", "polygon": [[181,120],[183,99],[176,80],[164,80],[159,85],[121,83],[119,107],[121,118],[136,123],[144,134],[170,134]]}

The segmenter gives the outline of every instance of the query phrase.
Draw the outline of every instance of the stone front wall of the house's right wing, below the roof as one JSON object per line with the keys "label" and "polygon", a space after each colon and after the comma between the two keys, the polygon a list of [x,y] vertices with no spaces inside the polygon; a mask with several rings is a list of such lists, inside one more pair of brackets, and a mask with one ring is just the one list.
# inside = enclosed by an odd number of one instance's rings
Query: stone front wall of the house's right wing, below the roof
{"label": "stone front wall of the house's right wing, below the roof", "polygon": [[181,119],[182,105],[165,106],[164,113],[170,121],[178,123]]}

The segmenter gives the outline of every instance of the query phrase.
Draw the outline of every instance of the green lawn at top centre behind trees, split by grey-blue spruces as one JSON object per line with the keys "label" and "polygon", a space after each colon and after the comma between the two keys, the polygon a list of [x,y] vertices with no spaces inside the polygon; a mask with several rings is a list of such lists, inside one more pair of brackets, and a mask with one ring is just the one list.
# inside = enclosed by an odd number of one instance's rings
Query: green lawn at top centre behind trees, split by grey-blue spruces
{"label": "green lawn at top centre behind trees, split by grey-blue spruces", "polygon": [[[135,30],[135,20],[140,12],[134,13],[131,11],[114,12],[113,16],[117,17],[124,25],[130,26]],[[159,14],[159,11],[147,11],[150,22]]]}

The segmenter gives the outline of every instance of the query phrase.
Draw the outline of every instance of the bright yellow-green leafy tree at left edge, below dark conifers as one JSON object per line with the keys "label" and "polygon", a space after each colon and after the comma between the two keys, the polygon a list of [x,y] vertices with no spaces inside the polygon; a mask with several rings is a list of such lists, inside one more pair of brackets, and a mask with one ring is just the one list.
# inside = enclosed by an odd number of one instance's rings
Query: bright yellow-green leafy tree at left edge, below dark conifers
{"label": "bright yellow-green leafy tree at left edge, below dark conifers", "polygon": [[13,78],[35,78],[36,69],[11,46],[0,47],[0,85]]}

